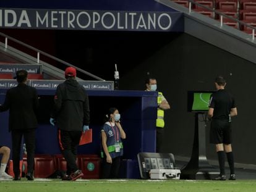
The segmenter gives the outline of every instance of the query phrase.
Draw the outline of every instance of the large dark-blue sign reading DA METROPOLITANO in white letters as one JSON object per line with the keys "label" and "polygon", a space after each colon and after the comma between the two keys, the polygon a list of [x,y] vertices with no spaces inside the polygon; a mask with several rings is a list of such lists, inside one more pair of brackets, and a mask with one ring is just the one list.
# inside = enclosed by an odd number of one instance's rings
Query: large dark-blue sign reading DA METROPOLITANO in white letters
{"label": "large dark-blue sign reading DA METROPOLITANO in white letters", "polygon": [[0,28],[184,31],[181,12],[0,8]]}

